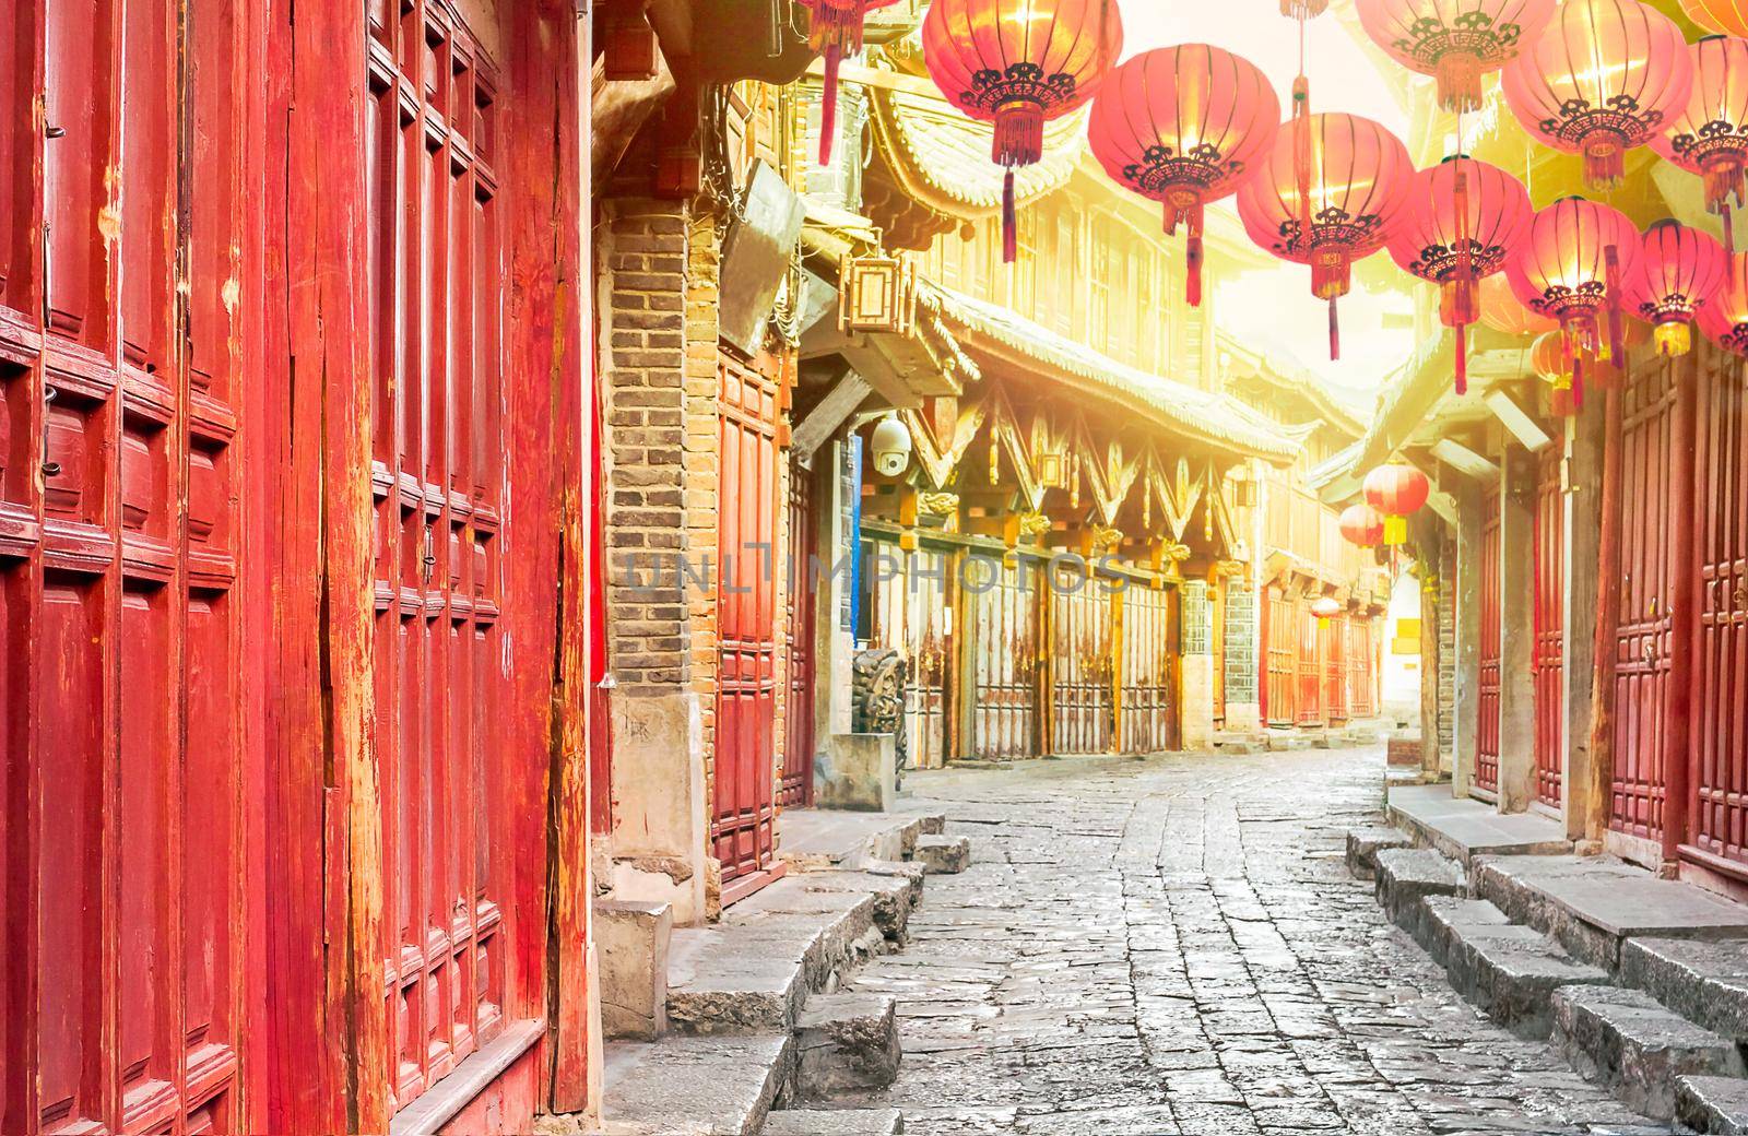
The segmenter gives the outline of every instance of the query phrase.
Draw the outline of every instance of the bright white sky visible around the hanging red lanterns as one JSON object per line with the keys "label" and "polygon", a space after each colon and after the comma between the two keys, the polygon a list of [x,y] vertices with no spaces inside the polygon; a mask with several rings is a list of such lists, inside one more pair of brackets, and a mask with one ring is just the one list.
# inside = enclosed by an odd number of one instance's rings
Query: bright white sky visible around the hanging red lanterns
{"label": "bright white sky visible around the hanging red lanterns", "polygon": [[[1245,56],[1274,80],[1281,107],[1288,107],[1299,73],[1299,24],[1281,16],[1280,0],[1119,0],[1124,56],[1171,44],[1213,44]],[[1330,10],[1308,24],[1306,51],[1314,110],[1342,110],[1374,119],[1398,138],[1409,121],[1384,82],[1374,49],[1360,45],[1363,31],[1353,0],[1334,0]],[[1430,82],[1430,80],[1428,80]],[[1231,201],[1225,203],[1231,208]],[[1377,253],[1388,260],[1388,253]],[[1376,274],[1376,273],[1374,273]],[[1341,302],[1342,358],[1328,360],[1328,309],[1311,295],[1311,269],[1281,262],[1248,273],[1215,299],[1225,330],[1259,344],[1274,357],[1292,357],[1330,383],[1372,391],[1414,350],[1407,327],[1386,330],[1383,316],[1412,313],[1404,278],[1400,292],[1367,294],[1355,281]]]}

